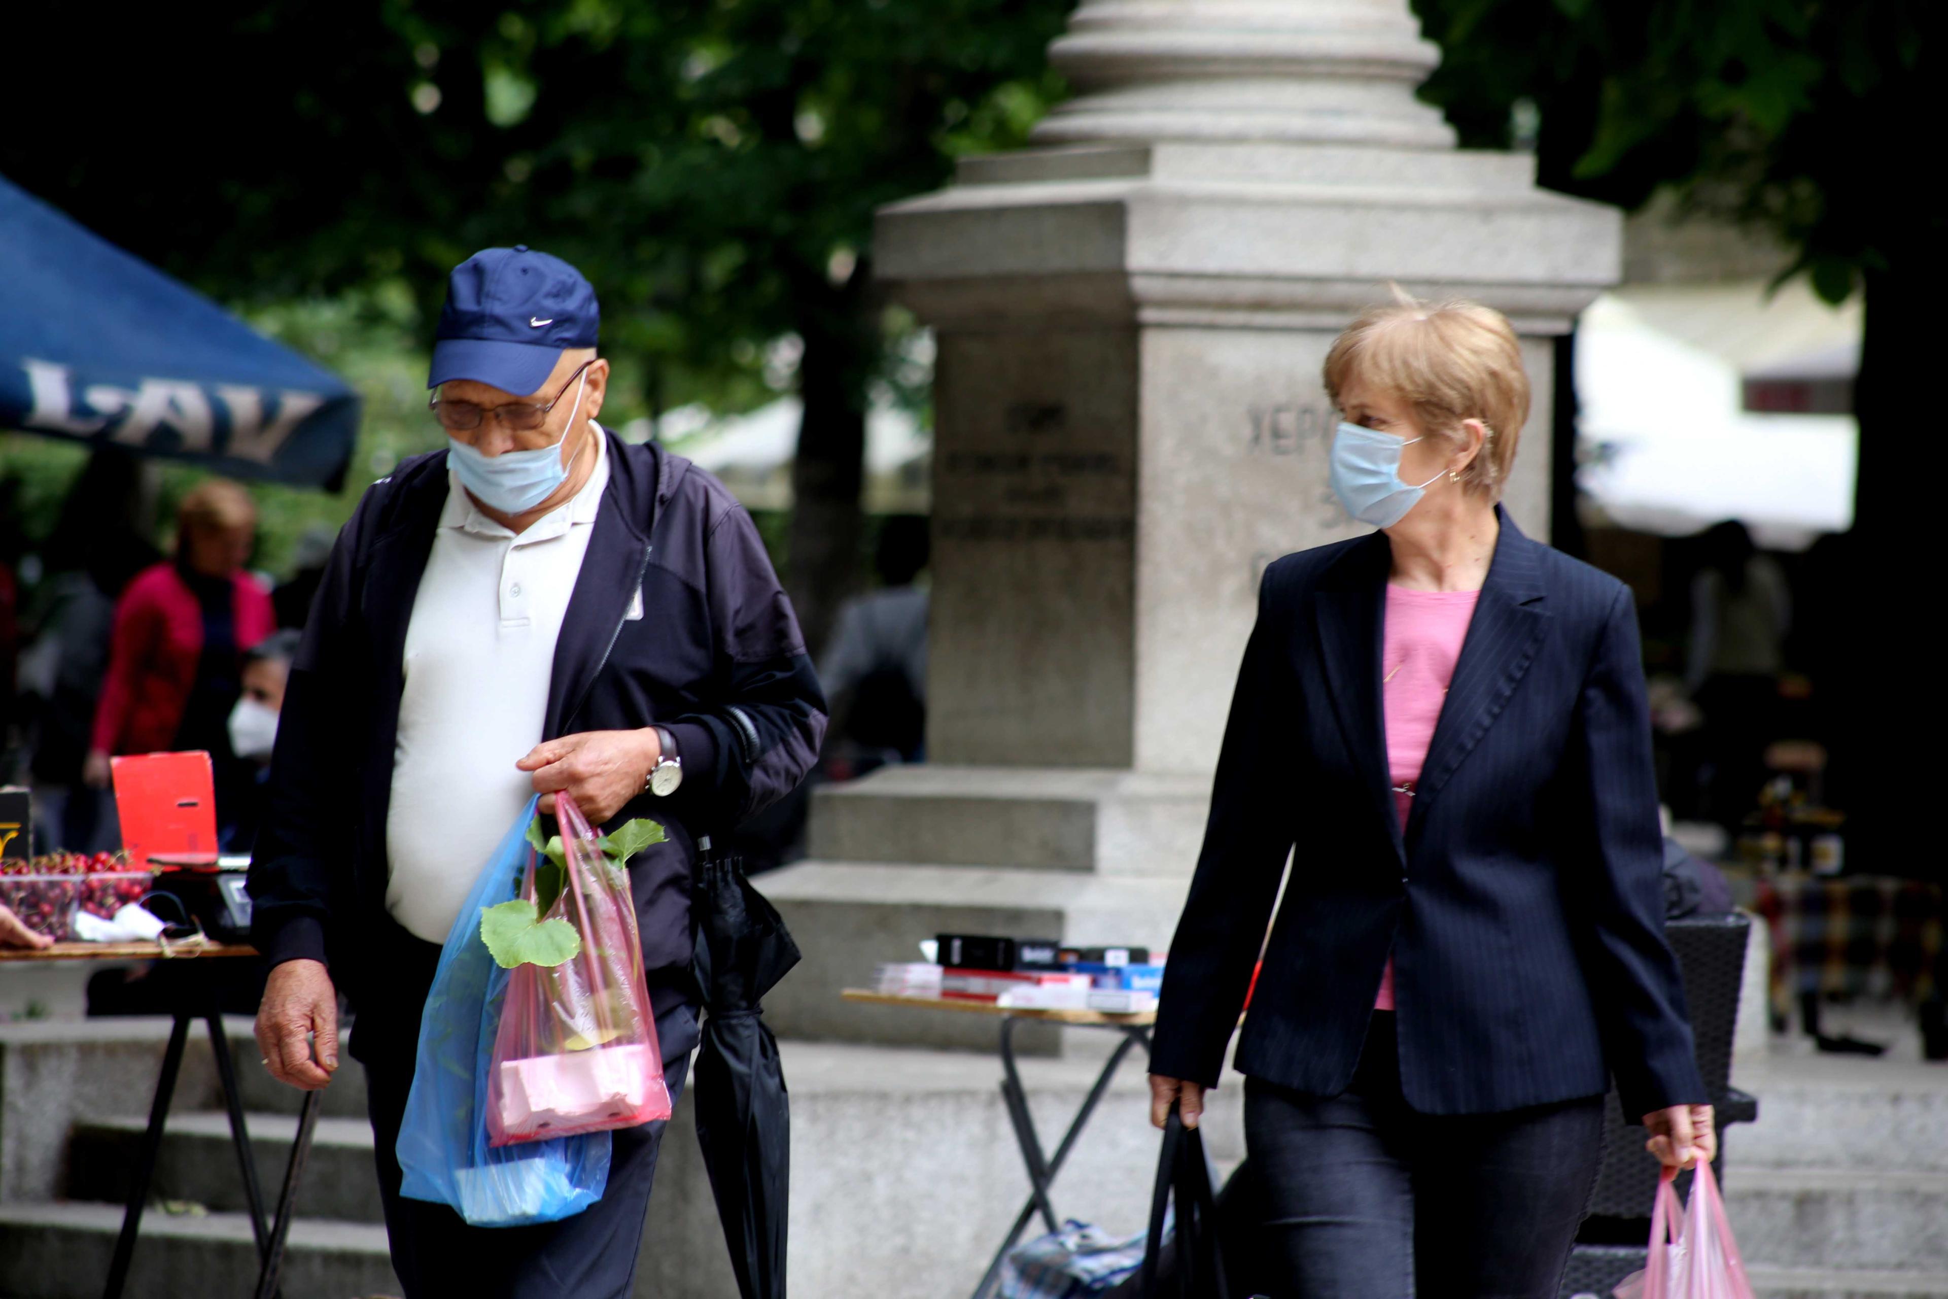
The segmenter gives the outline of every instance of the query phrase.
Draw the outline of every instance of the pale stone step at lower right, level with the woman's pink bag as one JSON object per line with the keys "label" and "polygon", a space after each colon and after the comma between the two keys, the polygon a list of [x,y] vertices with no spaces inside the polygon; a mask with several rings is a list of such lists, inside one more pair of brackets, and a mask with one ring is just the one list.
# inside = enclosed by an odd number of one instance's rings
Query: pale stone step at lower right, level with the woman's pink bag
{"label": "pale stone step at lower right, level with the woman's pink bag", "polygon": [[1753,1266],[1948,1272],[1948,1172],[1726,1172],[1726,1207]]}

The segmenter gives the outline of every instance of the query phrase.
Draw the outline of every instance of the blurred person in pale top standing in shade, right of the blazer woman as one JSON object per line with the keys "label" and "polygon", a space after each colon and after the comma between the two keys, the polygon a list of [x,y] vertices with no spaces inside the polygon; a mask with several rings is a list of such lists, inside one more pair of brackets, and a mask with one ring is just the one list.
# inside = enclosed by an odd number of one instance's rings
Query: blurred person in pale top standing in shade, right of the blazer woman
{"label": "blurred person in pale top standing in shade, right of the blazer woman", "polygon": [[1765,746],[1779,738],[1792,596],[1779,563],[1759,553],[1745,524],[1714,524],[1699,545],[1685,686],[1704,713],[1706,810],[1736,834],[1765,785]]}

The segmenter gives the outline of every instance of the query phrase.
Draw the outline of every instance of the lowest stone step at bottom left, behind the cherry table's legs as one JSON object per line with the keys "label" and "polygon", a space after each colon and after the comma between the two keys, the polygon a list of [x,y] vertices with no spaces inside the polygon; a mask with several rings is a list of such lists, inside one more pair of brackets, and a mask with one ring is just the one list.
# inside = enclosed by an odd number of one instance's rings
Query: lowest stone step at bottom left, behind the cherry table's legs
{"label": "lowest stone step at bottom left, behind the cherry table's legs", "polygon": [[[0,1278],[14,1299],[94,1299],[107,1281],[121,1207],[113,1204],[0,1204]],[[127,1299],[247,1295],[257,1244],[242,1213],[171,1217],[150,1211],[129,1270]],[[290,1227],[284,1299],[399,1295],[386,1229],[300,1219]]]}

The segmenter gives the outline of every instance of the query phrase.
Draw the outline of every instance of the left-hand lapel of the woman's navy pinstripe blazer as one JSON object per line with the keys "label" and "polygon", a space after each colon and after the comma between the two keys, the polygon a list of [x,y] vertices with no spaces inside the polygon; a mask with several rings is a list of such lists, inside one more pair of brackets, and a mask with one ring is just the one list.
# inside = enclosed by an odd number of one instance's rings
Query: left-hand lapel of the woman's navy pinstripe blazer
{"label": "left-hand lapel of the woman's navy pinstripe blazer", "polygon": [[1379,705],[1379,639],[1387,565],[1393,549],[1375,532],[1346,551],[1332,580],[1315,592],[1319,658],[1332,693],[1332,711],[1346,732],[1346,750],[1364,777],[1373,808],[1387,824],[1393,851],[1406,859],[1401,816],[1387,777],[1387,726]]}

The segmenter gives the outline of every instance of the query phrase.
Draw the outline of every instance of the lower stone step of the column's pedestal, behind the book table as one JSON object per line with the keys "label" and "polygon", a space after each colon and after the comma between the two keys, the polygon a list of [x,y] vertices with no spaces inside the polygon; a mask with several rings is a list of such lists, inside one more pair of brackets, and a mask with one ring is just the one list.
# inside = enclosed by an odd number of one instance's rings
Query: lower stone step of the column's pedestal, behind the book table
{"label": "lower stone step of the column's pedestal, behind the book table", "polygon": [[[766,997],[779,1036],[990,1050],[995,1026],[976,1015],[840,1001],[871,985],[882,960],[919,960],[937,933],[1011,933],[1066,943],[1169,945],[1188,878],[1069,871],[805,861],[769,871],[758,888],[783,913],[805,960]],[[1054,1038],[1023,1032],[1025,1052]]]}

